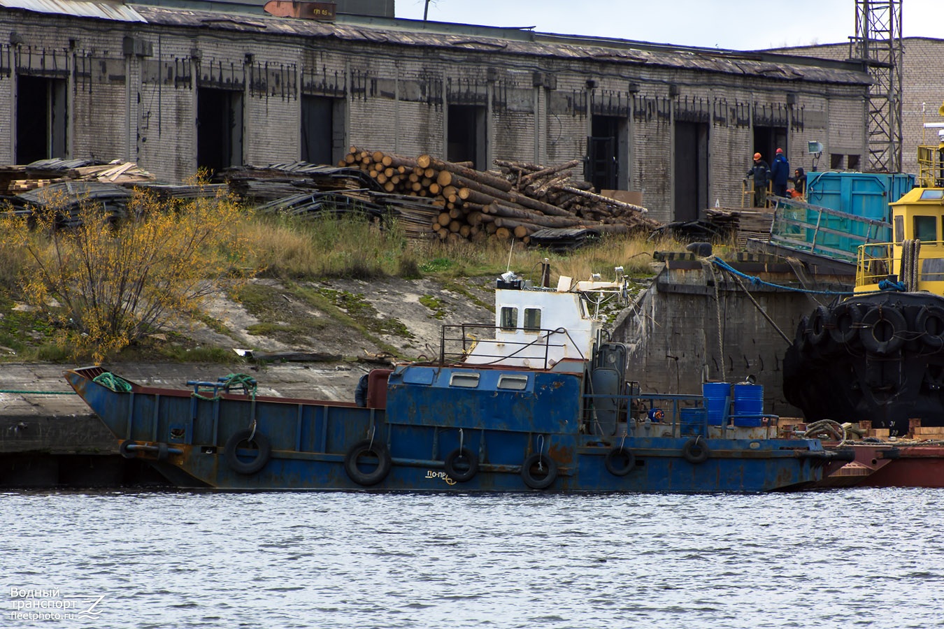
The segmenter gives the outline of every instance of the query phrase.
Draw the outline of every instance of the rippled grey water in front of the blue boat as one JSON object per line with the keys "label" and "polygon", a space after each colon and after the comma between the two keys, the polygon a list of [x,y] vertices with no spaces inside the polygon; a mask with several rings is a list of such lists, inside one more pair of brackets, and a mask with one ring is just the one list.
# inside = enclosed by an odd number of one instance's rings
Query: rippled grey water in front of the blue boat
{"label": "rippled grey water in front of the blue boat", "polygon": [[[3,627],[942,623],[936,489],[0,496]],[[10,588],[103,598],[29,621]]]}

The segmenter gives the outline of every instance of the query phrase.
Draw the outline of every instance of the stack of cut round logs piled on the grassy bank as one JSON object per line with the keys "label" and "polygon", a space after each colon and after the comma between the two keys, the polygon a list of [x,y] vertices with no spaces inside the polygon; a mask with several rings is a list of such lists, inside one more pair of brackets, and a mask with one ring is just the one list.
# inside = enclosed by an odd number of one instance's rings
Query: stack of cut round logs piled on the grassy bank
{"label": "stack of cut round logs piled on the grassy bank", "polygon": [[645,207],[598,194],[571,170],[580,160],[558,166],[496,159],[498,171],[477,171],[469,162],[421,155],[404,157],[350,147],[339,166],[359,168],[392,194],[428,197],[430,235],[446,241],[492,237],[528,242],[548,227],[582,228],[599,234],[651,230],[659,223]]}

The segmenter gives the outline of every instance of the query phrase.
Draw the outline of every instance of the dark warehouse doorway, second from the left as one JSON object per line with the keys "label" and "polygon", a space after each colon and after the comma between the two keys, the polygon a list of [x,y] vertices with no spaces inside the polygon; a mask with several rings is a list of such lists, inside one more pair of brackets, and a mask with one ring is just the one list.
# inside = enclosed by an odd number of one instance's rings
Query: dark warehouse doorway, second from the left
{"label": "dark warehouse doorway, second from the left", "polygon": [[242,163],[243,92],[197,88],[197,167],[216,172]]}

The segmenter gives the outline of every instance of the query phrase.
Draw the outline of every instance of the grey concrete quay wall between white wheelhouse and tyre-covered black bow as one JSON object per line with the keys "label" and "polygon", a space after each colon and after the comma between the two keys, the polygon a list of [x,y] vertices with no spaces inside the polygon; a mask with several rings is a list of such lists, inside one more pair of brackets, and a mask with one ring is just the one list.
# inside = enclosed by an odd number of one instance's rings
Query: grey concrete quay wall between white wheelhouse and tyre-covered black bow
{"label": "grey concrete quay wall between white wheelhouse and tyre-covered black bow", "polygon": [[[644,391],[700,394],[705,381],[743,381],[749,374],[764,386],[765,410],[801,417],[786,403],[783,360],[789,343],[751,297],[790,339],[803,316],[834,297],[815,301],[800,292],[750,285],[750,296],[729,274],[687,256],[666,263],[649,290],[616,323],[613,339],[629,346],[628,380]],[[762,258],[758,258],[762,259]],[[742,273],[780,286],[800,288],[790,267],[766,261],[735,265]],[[851,278],[818,276],[817,290],[851,290]]]}

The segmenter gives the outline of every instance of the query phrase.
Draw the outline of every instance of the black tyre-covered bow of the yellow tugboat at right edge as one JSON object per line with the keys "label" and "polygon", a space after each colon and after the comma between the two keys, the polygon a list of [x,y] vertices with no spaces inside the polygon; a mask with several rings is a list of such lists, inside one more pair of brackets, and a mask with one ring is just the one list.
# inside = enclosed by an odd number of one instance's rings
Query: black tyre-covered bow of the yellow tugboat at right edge
{"label": "black tyre-covered bow of the yellow tugboat at right edge", "polygon": [[944,425],[944,298],[857,295],[803,317],[784,356],[784,395],[807,422]]}

